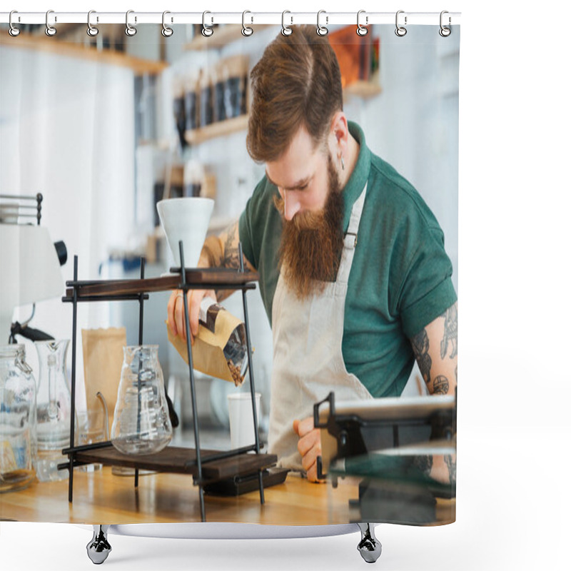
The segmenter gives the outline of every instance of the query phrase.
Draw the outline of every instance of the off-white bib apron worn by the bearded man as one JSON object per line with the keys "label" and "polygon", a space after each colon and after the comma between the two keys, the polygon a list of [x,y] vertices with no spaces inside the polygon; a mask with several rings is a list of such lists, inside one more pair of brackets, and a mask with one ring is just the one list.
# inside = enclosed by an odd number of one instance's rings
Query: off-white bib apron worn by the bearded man
{"label": "off-white bib apron worn by the bearded man", "polygon": [[313,405],[330,391],[335,400],[370,399],[363,383],[343,361],[345,297],[367,185],[353,204],[337,281],[300,300],[280,273],[272,304],[273,369],[268,451],[278,465],[303,471],[293,420],[313,416]]}

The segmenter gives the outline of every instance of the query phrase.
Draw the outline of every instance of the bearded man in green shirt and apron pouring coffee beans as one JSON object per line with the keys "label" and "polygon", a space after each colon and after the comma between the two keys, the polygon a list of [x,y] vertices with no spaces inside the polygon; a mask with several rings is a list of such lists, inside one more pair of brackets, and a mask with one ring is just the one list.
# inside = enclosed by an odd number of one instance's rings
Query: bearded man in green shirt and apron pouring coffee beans
{"label": "bearded man in green shirt and apron pouring coffee beans", "polygon": [[[454,394],[457,297],[433,213],[343,113],[328,40],[293,30],[251,72],[248,153],[266,176],[239,221],[206,240],[199,266],[237,268],[241,242],[260,274],[273,334],[268,451],[317,481],[312,411],[331,390],[398,396],[416,358],[431,394]],[[188,292],[193,335],[206,293]],[[185,338],[183,323],[173,292],[168,324]],[[430,470],[453,480],[455,465],[435,458]]]}

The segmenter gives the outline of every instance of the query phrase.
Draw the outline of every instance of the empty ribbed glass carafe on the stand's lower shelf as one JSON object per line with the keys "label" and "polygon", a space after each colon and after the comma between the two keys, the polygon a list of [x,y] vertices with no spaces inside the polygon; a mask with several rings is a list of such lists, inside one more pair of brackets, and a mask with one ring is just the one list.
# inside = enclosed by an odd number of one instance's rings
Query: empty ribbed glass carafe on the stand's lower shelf
{"label": "empty ribbed glass carafe on the stand's lower shelf", "polygon": [[152,454],[172,435],[158,345],[123,347],[111,443],[124,454]]}

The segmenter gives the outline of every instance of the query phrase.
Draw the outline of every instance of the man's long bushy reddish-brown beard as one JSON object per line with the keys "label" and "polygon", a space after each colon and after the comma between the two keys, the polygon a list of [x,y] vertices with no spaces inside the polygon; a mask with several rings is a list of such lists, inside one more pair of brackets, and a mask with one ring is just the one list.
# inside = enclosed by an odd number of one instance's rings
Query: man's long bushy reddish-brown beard
{"label": "man's long bushy reddish-brown beard", "polygon": [[[319,212],[300,212],[287,221],[281,197],[274,203],[281,214],[281,273],[300,299],[321,293],[324,282],[335,281],[343,251],[343,196],[339,177],[328,156],[328,196]],[[285,191],[287,192],[287,191]]]}

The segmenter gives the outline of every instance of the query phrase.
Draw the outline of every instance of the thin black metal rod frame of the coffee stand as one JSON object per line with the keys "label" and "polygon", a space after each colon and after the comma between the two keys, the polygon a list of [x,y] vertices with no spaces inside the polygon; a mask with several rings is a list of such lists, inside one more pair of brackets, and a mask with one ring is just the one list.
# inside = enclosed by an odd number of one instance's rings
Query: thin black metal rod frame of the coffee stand
{"label": "thin black metal rod frame of the coffee stand", "polygon": [[[184,303],[184,313],[185,313],[185,327],[186,327],[186,348],[188,350],[188,373],[190,377],[191,384],[191,400],[192,400],[192,410],[193,410],[193,431],[194,431],[194,443],[196,446],[196,460],[189,460],[187,465],[196,465],[198,474],[194,478],[194,482],[198,485],[200,505],[201,505],[201,520],[206,522],[206,509],[204,505],[204,490],[203,485],[206,483],[203,480],[202,475],[202,465],[208,462],[213,462],[216,460],[223,460],[225,458],[231,458],[233,456],[238,456],[244,453],[255,451],[256,454],[260,453],[260,440],[258,436],[258,413],[256,410],[256,385],[254,383],[254,373],[253,373],[253,363],[252,363],[252,347],[250,341],[250,327],[248,323],[248,303],[246,300],[246,290],[255,289],[256,285],[253,283],[243,283],[243,284],[220,284],[220,283],[187,283],[186,282],[186,271],[184,266],[184,252],[183,243],[180,241],[178,243],[180,255],[181,255],[181,267],[173,268],[181,273],[181,283],[179,284],[179,289],[183,290],[183,303]],[[240,269],[238,271],[244,271],[242,245],[238,244],[240,253]],[[138,327],[138,343],[143,344],[143,301],[148,300],[148,293],[130,293],[130,294],[113,294],[113,295],[84,295],[79,296],[81,287],[84,285],[92,285],[96,282],[94,281],[79,281],[78,280],[78,257],[74,256],[74,280],[68,281],[66,285],[73,288],[73,295],[66,295],[61,298],[63,302],[73,304],[73,333],[71,340],[71,423],[69,430],[69,447],[62,450],[63,455],[67,455],[68,462],[61,463],[58,468],[67,468],[69,470],[69,492],[68,500],[73,502],[74,494],[74,468],[76,466],[84,465],[83,462],[76,460],[76,453],[96,450],[97,448],[106,448],[111,445],[111,440],[101,443],[93,443],[81,446],[75,446],[75,423],[74,418],[76,414],[76,353],[77,353],[77,310],[78,304],[81,302],[91,302],[91,301],[123,301],[123,300],[133,300],[139,303],[139,327]],[[144,279],[145,274],[145,258],[141,258],[141,280]],[[97,283],[100,283],[97,282]],[[248,371],[250,373],[250,392],[252,398],[252,410],[253,410],[253,422],[254,422],[254,435],[256,438],[256,443],[250,446],[244,446],[243,448],[236,448],[233,450],[228,450],[226,452],[208,454],[203,456],[201,454],[200,448],[200,435],[198,427],[198,414],[196,406],[196,385],[194,380],[193,371],[193,361],[192,361],[192,347],[191,347],[191,325],[188,317],[188,299],[186,294],[188,290],[192,289],[213,289],[218,290],[223,289],[241,289],[242,290],[242,301],[244,310],[244,324],[246,326],[246,345],[248,348]],[[263,492],[263,470],[258,469],[258,482],[260,488],[260,502],[264,503],[264,492]],[[135,487],[138,486],[138,468],[135,469]]]}

